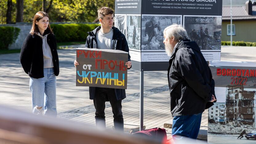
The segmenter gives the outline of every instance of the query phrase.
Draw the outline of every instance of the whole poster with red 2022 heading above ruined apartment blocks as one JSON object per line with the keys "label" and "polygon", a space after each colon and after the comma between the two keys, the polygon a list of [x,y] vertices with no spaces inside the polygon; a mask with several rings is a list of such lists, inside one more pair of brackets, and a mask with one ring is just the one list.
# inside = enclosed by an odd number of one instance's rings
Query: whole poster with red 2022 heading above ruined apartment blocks
{"label": "whole poster with red 2022 heading above ruined apartment blocks", "polygon": [[208,109],[208,143],[255,143],[256,63],[210,61],[217,102]]}

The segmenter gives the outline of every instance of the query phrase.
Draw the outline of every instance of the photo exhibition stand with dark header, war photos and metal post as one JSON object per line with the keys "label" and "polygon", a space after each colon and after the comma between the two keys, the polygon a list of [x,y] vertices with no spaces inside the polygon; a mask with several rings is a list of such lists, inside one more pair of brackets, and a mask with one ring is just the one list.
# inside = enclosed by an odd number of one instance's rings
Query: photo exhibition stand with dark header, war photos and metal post
{"label": "photo exhibition stand with dark header, war photos and metal post", "polygon": [[[163,30],[182,25],[206,61],[220,60],[222,0],[115,0],[115,27],[126,37],[132,69],[140,71],[140,130],[143,130],[144,71],[166,71]],[[167,78],[167,77],[166,77]]]}

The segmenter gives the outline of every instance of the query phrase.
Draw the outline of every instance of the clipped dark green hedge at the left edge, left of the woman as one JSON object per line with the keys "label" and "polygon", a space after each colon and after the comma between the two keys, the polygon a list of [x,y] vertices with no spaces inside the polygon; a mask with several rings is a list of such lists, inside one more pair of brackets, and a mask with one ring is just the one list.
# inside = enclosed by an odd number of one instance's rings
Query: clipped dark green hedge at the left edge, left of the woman
{"label": "clipped dark green hedge at the left edge, left of the woman", "polygon": [[20,29],[13,26],[0,26],[0,50],[7,50],[18,38]]}

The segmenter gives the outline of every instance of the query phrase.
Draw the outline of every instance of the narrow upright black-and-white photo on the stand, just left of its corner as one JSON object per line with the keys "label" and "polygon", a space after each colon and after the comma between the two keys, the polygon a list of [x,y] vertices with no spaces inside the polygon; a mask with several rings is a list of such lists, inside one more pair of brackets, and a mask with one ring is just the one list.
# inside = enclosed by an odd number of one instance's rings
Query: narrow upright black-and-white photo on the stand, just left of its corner
{"label": "narrow upright black-and-white photo on the stand, just left of its corner", "polygon": [[127,43],[129,49],[140,51],[140,15],[127,15]]}

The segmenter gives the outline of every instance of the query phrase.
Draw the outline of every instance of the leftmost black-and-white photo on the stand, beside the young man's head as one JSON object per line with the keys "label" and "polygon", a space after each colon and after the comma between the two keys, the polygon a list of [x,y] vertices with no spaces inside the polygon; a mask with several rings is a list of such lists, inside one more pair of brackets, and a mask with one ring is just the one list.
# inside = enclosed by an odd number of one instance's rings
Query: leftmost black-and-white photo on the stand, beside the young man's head
{"label": "leftmost black-and-white photo on the stand, beside the young man's head", "polygon": [[126,14],[115,14],[115,27],[126,36]]}

